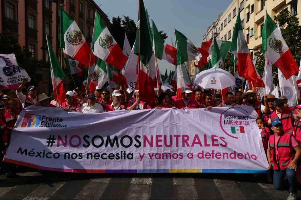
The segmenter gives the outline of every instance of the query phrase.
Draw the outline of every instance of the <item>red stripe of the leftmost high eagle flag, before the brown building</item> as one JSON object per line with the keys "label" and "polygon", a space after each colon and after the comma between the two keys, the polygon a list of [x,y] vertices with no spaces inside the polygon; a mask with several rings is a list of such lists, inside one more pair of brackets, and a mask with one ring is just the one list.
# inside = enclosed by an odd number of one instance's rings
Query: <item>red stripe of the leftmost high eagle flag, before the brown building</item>
{"label": "red stripe of the leftmost high eagle flag, before the brown building", "polygon": [[[75,60],[77,60],[78,62],[82,63],[83,65],[85,65],[87,67],[91,67],[96,62],[96,58],[95,58],[94,54],[92,53],[91,61],[90,61],[90,54],[91,54],[91,49],[90,49],[88,43],[85,42],[73,58]],[[89,66],[89,63],[90,63],[90,66]]]}

